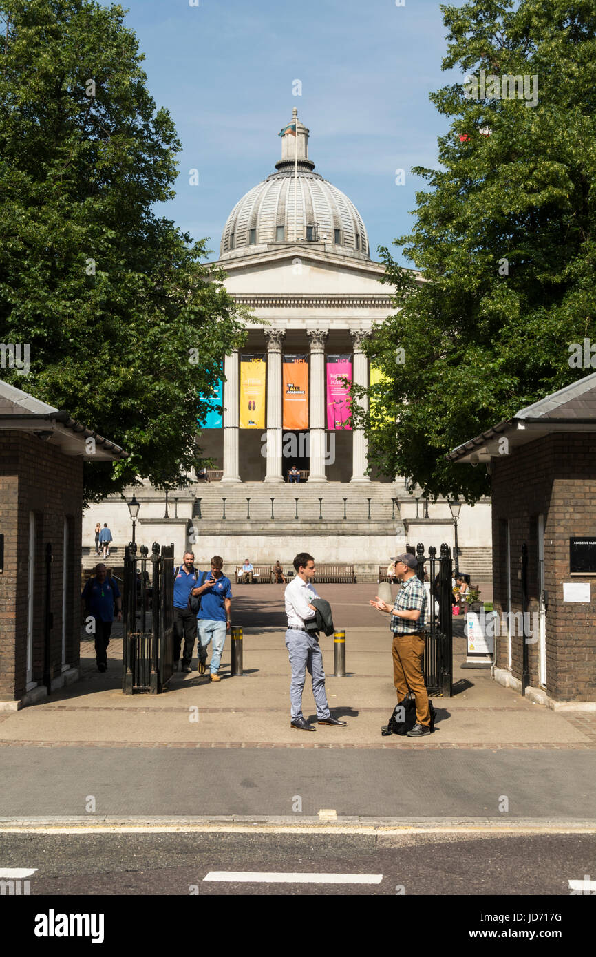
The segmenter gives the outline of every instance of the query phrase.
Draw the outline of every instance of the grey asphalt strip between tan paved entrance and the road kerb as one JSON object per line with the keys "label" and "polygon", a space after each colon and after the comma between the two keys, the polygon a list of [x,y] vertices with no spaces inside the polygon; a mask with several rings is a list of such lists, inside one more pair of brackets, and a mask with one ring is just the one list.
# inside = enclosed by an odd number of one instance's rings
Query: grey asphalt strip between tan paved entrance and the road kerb
{"label": "grey asphalt strip between tan paved entrance and the road kerb", "polygon": [[0,749],[0,817],[298,819],[320,809],[397,818],[596,817],[591,750],[71,746],[56,758],[55,747]]}

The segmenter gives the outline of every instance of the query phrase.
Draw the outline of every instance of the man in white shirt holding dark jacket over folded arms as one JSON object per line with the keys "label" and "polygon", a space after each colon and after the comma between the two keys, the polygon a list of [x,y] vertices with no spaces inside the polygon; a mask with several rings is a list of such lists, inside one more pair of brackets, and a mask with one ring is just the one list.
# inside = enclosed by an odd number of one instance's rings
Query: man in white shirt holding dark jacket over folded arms
{"label": "man in white shirt holding dark jacket over folded arms", "polygon": [[317,612],[314,605],[311,604],[313,598],[320,598],[313,585],[317,570],[315,559],[312,555],[302,551],[294,559],[294,568],[296,568],[296,578],[290,582],[284,592],[286,614],[288,616],[286,648],[292,666],[290,725],[291,727],[297,727],[300,731],[315,730],[302,714],[302,691],[306,669],[308,668],[308,672],[313,679],[313,695],[317,704],[318,722],[344,727],[346,722],[333,718],[329,711],[325,694],[325,673],[322,669],[319,638],[316,634],[307,632],[304,628],[304,622],[314,618]]}

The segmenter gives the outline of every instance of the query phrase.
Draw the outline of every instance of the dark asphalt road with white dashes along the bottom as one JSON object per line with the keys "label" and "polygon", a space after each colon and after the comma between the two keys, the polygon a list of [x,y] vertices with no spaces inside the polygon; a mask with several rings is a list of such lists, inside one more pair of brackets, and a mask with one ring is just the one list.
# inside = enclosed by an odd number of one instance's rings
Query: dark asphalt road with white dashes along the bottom
{"label": "dark asphalt road with white dashes along the bottom", "polygon": [[[596,835],[332,835],[0,833],[0,869],[36,868],[49,895],[556,895],[596,877]],[[287,882],[206,880],[213,872],[288,875]],[[364,875],[371,884],[299,883],[297,875]],[[579,901],[579,904],[591,901]],[[60,905],[62,908],[65,904]],[[491,911],[497,908],[492,902]],[[477,907],[466,904],[472,916]],[[525,910],[541,911],[538,904]],[[473,924],[474,925],[474,924]]]}

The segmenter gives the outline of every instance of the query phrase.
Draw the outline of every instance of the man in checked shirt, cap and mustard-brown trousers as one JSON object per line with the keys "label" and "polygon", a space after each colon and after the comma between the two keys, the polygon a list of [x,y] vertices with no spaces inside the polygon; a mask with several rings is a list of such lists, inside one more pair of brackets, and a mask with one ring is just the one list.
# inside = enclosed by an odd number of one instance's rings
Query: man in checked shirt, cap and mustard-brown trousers
{"label": "man in checked shirt, cap and mustard-brown trousers", "polygon": [[429,694],[422,670],[429,598],[427,590],[416,575],[418,560],[415,555],[408,552],[398,555],[393,568],[402,582],[393,608],[378,595],[370,604],[380,612],[391,615],[389,627],[393,632],[393,683],[397,700],[405,701],[408,691],[413,691],[416,699],[416,723],[411,731],[408,731],[408,738],[421,738],[424,734],[430,734]]}

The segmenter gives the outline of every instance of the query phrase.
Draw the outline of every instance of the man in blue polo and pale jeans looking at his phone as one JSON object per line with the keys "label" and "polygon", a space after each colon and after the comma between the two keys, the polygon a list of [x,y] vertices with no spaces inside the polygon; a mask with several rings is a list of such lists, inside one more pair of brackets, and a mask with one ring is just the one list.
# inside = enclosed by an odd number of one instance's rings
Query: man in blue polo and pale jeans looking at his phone
{"label": "man in blue polo and pale jeans looking at his phone", "polygon": [[201,611],[197,614],[199,635],[199,674],[206,671],[207,649],[213,642],[210,660],[211,681],[221,681],[217,674],[226,641],[226,633],[232,625],[232,582],[222,572],[224,560],[221,555],[213,555],[211,571],[205,583],[192,590],[193,595],[201,595]]}

